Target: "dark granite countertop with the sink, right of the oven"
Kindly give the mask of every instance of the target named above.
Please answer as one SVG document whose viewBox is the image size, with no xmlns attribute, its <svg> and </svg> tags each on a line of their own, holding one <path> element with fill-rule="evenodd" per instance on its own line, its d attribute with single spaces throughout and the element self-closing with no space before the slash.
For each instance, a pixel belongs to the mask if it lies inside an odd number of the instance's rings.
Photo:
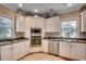
<svg viewBox="0 0 86 64">
<path fill-rule="evenodd" d="M 54 41 L 86 43 L 86 38 L 44 37 L 42 39 L 54 40 Z"/>
</svg>

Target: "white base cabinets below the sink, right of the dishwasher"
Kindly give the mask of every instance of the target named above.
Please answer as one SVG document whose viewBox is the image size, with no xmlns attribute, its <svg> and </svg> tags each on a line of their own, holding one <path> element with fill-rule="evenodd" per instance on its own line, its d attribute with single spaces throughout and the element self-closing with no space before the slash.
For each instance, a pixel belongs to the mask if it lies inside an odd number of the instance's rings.
<svg viewBox="0 0 86 64">
<path fill-rule="evenodd" d="M 86 60 L 86 43 L 60 42 L 60 55 L 73 60 Z"/>
</svg>

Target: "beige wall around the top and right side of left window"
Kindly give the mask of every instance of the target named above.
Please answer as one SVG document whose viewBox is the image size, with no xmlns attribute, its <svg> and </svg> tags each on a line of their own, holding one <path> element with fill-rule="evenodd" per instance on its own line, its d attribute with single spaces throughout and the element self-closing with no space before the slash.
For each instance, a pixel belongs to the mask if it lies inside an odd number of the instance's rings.
<svg viewBox="0 0 86 64">
<path fill-rule="evenodd" d="M 15 16 L 16 16 L 15 11 L 0 4 L 0 16 L 12 18 L 13 25 L 15 27 Z M 12 30 L 12 37 L 15 37 L 14 31 L 15 28 L 13 28 Z"/>
</svg>

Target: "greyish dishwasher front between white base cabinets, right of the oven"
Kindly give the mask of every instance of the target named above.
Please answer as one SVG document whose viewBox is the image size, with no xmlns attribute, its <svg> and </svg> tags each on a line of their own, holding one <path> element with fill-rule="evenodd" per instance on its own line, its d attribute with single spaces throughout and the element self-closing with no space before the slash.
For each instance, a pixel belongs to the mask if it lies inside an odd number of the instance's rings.
<svg viewBox="0 0 86 64">
<path fill-rule="evenodd" d="M 48 41 L 48 52 L 59 55 L 59 42 L 56 40 Z"/>
</svg>

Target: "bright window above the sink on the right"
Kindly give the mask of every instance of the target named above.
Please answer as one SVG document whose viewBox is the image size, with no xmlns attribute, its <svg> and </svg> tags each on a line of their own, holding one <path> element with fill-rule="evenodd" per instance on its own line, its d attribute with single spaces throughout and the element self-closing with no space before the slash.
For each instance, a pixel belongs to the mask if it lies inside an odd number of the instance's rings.
<svg viewBox="0 0 86 64">
<path fill-rule="evenodd" d="M 78 24 L 77 21 L 66 21 L 66 22 L 62 22 L 62 37 L 66 37 L 66 38 L 74 38 L 74 37 L 78 37 Z"/>
</svg>

